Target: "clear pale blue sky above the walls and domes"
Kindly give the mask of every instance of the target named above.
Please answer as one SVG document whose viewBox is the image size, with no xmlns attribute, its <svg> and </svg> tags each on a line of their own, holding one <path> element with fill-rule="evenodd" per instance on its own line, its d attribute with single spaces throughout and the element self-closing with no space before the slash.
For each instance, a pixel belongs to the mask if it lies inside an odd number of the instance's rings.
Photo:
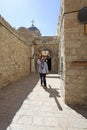
<svg viewBox="0 0 87 130">
<path fill-rule="evenodd" d="M 30 27 L 31 21 L 42 36 L 55 36 L 60 0 L 0 0 L 0 14 L 12 26 Z"/>
</svg>

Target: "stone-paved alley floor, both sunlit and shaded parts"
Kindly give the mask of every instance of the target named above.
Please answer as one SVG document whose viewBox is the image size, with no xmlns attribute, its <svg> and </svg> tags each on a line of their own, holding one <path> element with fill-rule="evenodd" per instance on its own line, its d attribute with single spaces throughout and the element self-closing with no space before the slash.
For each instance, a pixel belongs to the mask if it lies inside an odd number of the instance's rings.
<svg viewBox="0 0 87 130">
<path fill-rule="evenodd" d="M 57 75 L 47 77 L 47 90 L 38 79 L 31 74 L 0 90 L 0 130 L 87 130 L 87 110 L 64 103 Z"/>
</svg>

